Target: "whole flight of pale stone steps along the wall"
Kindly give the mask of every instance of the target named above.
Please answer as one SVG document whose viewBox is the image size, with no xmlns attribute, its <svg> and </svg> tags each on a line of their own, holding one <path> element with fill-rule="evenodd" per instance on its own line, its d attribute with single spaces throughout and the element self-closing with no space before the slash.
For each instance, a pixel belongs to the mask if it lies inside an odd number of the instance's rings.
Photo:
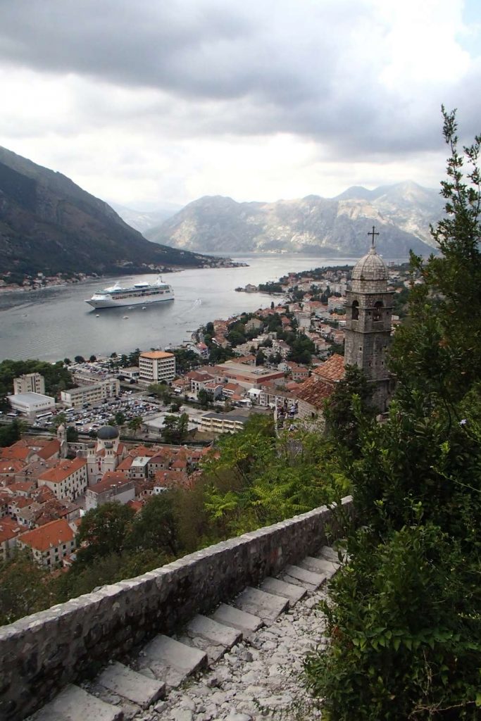
<svg viewBox="0 0 481 721">
<path fill-rule="evenodd" d="M 211 616 L 195 616 L 182 634 L 149 641 L 130 666 L 115 661 L 86 691 L 69 684 L 30 721 L 128 721 L 177 689 L 189 676 L 211 668 L 225 653 L 316 591 L 339 567 L 337 553 L 323 547 L 318 557 L 288 565 L 278 578 L 247 587 Z"/>
</svg>

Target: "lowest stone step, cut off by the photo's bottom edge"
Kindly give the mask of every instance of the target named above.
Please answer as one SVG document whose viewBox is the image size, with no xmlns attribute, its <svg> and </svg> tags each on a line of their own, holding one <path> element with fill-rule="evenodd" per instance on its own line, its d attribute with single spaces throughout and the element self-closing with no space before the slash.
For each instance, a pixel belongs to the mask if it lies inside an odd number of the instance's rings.
<svg viewBox="0 0 481 721">
<path fill-rule="evenodd" d="M 123 721 L 118 706 L 106 704 L 79 686 L 69 684 L 53 701 L 37 711 L 30 721 Z"/>
</svg>

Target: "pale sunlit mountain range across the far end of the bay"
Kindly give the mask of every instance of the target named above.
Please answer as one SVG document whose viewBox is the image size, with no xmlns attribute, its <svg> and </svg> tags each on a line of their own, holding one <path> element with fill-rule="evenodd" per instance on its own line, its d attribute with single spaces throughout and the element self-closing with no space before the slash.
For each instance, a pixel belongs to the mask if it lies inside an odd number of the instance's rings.
<svg viewBox="0 0 481 721">
<path fill-rule="evenodd" d="M 207 196 L 146 231 L 155 242 L 201 252 L 290 251 L 306 255 L 363 255 L 371 226 L 379 252 L 402 258 L 432 252 L 429 224 L 441 217 L 441 198 L 415 183 L 376 190 L 351 187 L 337 198 L 308 195 L 275 203 L 237 203 Z M 432 239 L 431 239 L 432 244 Z"/>
</svg>

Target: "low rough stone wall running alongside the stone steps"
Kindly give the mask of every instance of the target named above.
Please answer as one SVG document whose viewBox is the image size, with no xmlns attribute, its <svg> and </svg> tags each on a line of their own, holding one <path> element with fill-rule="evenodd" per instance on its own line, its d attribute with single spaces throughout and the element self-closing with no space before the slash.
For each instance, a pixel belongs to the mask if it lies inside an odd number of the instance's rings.
<svg viewBox="0 0 481 721">
<path fill-rule="evenodd" d="M 351 497 L 342 504 L 352 513 Z M 339 527 L 322 506 L 1 627 L 0 721 L 21 721 L 69 682 L 315 554 Z"/>
</svg>

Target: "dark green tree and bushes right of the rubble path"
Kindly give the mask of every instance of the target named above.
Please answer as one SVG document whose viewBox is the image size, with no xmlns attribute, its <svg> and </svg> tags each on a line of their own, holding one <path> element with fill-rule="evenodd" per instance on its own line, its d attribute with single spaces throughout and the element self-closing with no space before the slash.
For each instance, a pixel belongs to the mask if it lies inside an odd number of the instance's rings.
<svg viewBox="0 0 481 721">
<path fill-rule="evenodd" d="M 422 283 L 394 337 L 394 402 L 381 424 L 353 407 L 357 451 L 341 457 L 363 526 L 323 604 L 327 650 L 306 663 L 332 721 L 480 713 L 480 138 L 458 151 L 455 115 L 443 113 L 442 255 L 412 256 Z"/>
</svg>

